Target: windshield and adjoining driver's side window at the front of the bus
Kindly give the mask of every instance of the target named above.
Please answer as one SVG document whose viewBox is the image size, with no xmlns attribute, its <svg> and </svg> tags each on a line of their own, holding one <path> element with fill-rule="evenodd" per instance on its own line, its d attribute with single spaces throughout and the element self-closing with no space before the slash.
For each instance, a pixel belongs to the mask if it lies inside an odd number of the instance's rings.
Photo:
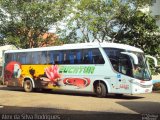
<svg viewBox="0 0 160 120">
<path fill-rule="evenodd" d="M 140 80 L 151 79 L 151 75 L 148 70 L 143 53 L 127 51 L 128 53 L 133 53 L 137 56 L 138 64 L 135 64 L 131 56 L 123 54 L 124 52 L 126 52 L 123 49 L 104 48 L 104 50 L 107 56 L 109 57 L 113 69 L 116 72 Z"/>
</svg>

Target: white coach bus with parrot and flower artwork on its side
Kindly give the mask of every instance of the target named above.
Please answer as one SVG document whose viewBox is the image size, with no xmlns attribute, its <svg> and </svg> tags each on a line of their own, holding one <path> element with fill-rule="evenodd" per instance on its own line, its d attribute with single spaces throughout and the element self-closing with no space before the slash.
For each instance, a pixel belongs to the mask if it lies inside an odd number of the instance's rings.
<svg viewBox="0 0 160 120">
<path fill-rule="evenodd" d="M 152 92 L 144 52 L 118 43 L 78 43 L 7 50 L 3 81 L 26 92 L 48 89 L 98 97 Z"/>
</svg>

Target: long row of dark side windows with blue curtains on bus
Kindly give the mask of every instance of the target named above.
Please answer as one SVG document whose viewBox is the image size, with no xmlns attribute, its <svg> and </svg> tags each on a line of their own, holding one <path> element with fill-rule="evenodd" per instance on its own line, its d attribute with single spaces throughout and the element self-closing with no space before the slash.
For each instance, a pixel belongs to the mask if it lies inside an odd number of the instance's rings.
<svg viewBox="0 0 160 120">
<path fill-rule="evenodd" d="M 21 64 L 104 64 L 98 48 L 13 53 L 6 54 L 7 61 Z"/>
</svg>

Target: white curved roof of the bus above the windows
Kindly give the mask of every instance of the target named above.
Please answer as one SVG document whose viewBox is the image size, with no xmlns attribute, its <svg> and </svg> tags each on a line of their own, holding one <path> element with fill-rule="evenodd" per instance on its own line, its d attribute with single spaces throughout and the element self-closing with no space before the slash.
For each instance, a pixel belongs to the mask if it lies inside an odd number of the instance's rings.
<svg viewBox="0 0 160 120">
<path fill-rule="evenodd" d="M 128 51 L 143 52 L 141 49 L 119 43 L 76 43 L 76 44 L 64 44 L 60 46 L 51 46 L 51 47 L 40 47 L 40 48 L 29 48 L 29 49 L 19 49 L 19 50 L 7 50 L 5 53 L 13 52 L 32 52 L 32 51 L 47 51 L 47 50 L 68 50 L 68 49 L 85 49 L 85 48 L 119 48 Z"/>
</svg>

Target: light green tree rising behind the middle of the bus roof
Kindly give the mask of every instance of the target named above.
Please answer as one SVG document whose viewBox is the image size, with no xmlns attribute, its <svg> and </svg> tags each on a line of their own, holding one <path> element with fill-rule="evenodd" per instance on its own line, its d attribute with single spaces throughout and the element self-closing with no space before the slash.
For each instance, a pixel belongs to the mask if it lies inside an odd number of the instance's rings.
<svg viewBox="0 0 160 120">
<path fill-rule="evenodd" d="M 95 39 L 99 42 L 108 39 L 112 26 L 115 24 L 114 18 L 118 11 L 118 0 L 107 3 L 104 0 L 80 0 L 74 4 L 72 17 L 67 24 L 70 30 L 64 37 L 72 41 L 90 42 Z M 114 9 L 113 9 L 114 8 Z M 66 31 L 64 31 L 66 32 Z M 70 41 L 68 41 L 70 42 Z"/>
</svg>

